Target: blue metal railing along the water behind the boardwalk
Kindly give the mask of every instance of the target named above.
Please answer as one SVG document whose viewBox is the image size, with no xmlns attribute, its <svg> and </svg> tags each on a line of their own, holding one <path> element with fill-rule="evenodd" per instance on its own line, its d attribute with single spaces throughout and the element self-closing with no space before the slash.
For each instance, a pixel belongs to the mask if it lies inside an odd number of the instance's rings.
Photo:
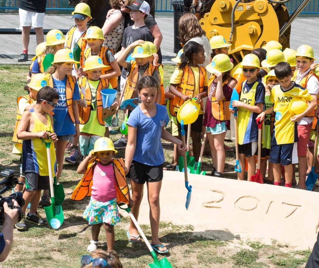
<svg viewBox="0 0 319 268">
<path fill-rule="evenodd" d="M 155 11 L 156 12 L 173 12 L 173 7 L 171 5 L 171 0 L 155 0 Z M 286 3 L 286 6 L 290 13 L 292 13 L 302 2 L 302 0 L 291 0 Z M 10 11 L 15 11 L 19 9 L 19 0 L 0 0 L 0 12 L 6 13 Z M 69 14 L 66 11 L 74 10 L 74 6 L 70 6 L 67 0 L 47 0 L 48 11 L 62 11 L 62 14 Z M 64 12 L 63 12 L 64 11 Z M 319 1 L 311 0 L 311 2 L 305 7 L 301 14 L 319 14 Z"/>
</svg>

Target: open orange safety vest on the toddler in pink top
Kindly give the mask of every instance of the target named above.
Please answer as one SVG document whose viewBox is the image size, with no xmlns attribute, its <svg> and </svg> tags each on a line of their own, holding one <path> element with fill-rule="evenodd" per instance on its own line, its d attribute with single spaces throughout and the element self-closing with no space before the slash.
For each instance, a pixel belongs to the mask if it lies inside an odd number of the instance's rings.
<svg viewBox="0 0 319 268">
<path fill-rule="evenodd" d="M 96 159 L 91 159 L 87 165 L 86 172 L 77 187 L 75 187 L 70 199 L 83 200 L 87 196 L 91 196 L 92 179 L 94 167 L 97 164 Z M 122 158 L 113 159 L 113 170 L 116 178 L 116 198 L 117 203 L 129 203 L 129 186 L 126 183 L 124 173 L 124 161 Z"/>
</svg>

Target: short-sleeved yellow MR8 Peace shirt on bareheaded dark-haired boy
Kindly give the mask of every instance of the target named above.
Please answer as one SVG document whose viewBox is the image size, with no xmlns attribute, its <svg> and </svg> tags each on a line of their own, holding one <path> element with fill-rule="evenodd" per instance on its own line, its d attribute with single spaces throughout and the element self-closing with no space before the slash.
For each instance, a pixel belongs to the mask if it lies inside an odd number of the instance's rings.
<svg viewBox="0 0 319 268">
<path fill-rule="evenodd" d="M 307 101 L 313 99 L 307 89 L 295 82 L 293 82 L 292 88 L 287 91 L 283 91 L 281 85 L 275 85 L 272 88 L 269 101 L 274 103 L 275 122 L 272 130 L 271 145 L 298 141 L 297 122 L 290 120 L 293 115 L 288 111 L 289 103 L 296 97 Z"/>
</svg>

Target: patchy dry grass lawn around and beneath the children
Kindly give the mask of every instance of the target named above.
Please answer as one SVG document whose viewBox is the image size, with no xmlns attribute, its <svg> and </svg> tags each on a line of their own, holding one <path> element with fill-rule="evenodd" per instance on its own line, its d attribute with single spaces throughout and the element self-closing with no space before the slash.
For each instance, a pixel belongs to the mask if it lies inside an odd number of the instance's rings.
<svg viewBox="0 0 319 268">
<path fill-rule="evenodd" d="M 165 66 L 164 86 L 168 86 L 174 66 Z M 15 127 L 16 98 L 26 94 L 23 90 L 25 84 L 26 66 L 0 65 L 0 170 L 11 168 L 19 170 L 19 156 L 11 153 L 12 134 Z M 121 118 L 121 115 L 119 116 Z M 117 130 L 115 128 L 115 130 Z M 113 141 L 120 134 L 112 135 Z M 227 141 L 228 146 L 234 146 Z M 166 163 L 173 157 L 172 147 L 165 146 L 164 154 Z M 67 156 L 67 154 L 66 154 Z M 118 157 L 124 156 L 124 150 L 119 150 Z M 16 162 L 13 162 L 16 161 Z M 13 162 L 13 163 L 12 163 Z M 10 164 L 9 166 L 5 166 Z M 203 158 L 203 170 L 211 170 L 211 158 Z M 227 177 L 235 178 L 234 152 L 226 152 Z M 54 230 L 48 226 L 30 226 L 26 232 L 14 230 L 14 243 L 8 259 L 1 264 L 4 268 L 20 267 L 80 267 L 80 258 L 87 254 L 86 247 L 91 240 L 91 228 L 82 218 L 88 199 L 82 201 L 70 200 L 81 176 L 76 173 L 76 166 L 65 163 L 61 182 L 66 193 L 63 203 L 63 226 Z M 9 192 L 7 193 L 9 194 Z M 39 213 L 45 212 L 39 208 Z M 121 213 L 121 223 L 115 226 L 115 250 L 120 255 L 124 268 L 146 268 L 153 259 L 144 243 L 131 244 L 128 242 L 126 231 L 129 218 L 126 213 Z M 149 225 L 142 225 L 145 235 L 150 240 L 151 229 Z M 174 268 L 228 268 L 228 267 L 304 267 L 311 251 L 294 251 L 286 245 L 273 241 L 271 245 L 260 242 L 241 241 L 234 243 L 221 241 L 219 238 L 207 238 L 193 233 L 194 226 L 176 225 L 172 222 L 160 222 L 159 238 L 167 244 L 170 253 L 168 261 Z M 99 236 L 100 248 L 107 249 L 105 232 L 102 229 Z M 163 256 L 158 256 L 159 259 Z"/>
</svg>

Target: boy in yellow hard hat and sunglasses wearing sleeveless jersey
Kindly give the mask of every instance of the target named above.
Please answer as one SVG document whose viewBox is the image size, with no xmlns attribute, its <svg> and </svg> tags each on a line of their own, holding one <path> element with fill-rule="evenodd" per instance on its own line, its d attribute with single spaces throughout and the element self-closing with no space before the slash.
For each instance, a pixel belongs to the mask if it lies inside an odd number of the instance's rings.
<svg viewBox="0 0 319 268">
<path fill-rule="evenodd" d="M 251 176 L 255 174 L 255 152 L 257 150 L 258 127 L 256 118 L 263 111 L 265 103 L 265 88 L 263 83 L 257 78 L 259 71 L 259 59 L 254 54 L 247 54 L 241 62 L 243 74 L 247 80 L 241 85 L 239 94 L 240 100 L 233 100 L 232 106 L 239 107 L 237 114 L 238 127 L 238 151 L 239 163 L 241 172 L 238 172 L 238 179 L 244 180 L 245 167 L 247 158 L 248 162 L 248 181 L 251 181 Z M 232 113 L 235 110 L 230 109 Z"/>
</svg>

